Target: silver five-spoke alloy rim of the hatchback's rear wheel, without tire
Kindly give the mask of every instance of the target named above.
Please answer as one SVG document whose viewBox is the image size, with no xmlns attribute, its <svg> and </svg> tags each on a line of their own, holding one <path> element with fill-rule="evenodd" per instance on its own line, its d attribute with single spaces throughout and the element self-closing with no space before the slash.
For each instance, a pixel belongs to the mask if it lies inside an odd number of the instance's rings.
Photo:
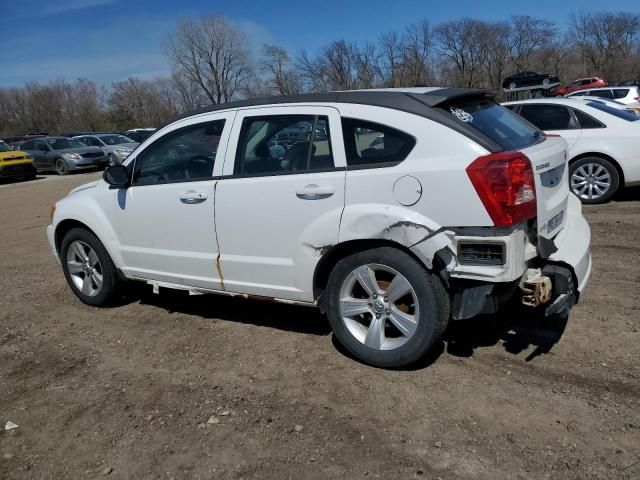
<svg viewBox="0 0 640 480">
<path fill-rule="evenodd" d="M 340 316 L 359 342 L 376 350 L 393 350 L 404 345 L 418 327 L 417 295 L 397 270 L 361 265 L 342 283 Z"/>
</svg>

